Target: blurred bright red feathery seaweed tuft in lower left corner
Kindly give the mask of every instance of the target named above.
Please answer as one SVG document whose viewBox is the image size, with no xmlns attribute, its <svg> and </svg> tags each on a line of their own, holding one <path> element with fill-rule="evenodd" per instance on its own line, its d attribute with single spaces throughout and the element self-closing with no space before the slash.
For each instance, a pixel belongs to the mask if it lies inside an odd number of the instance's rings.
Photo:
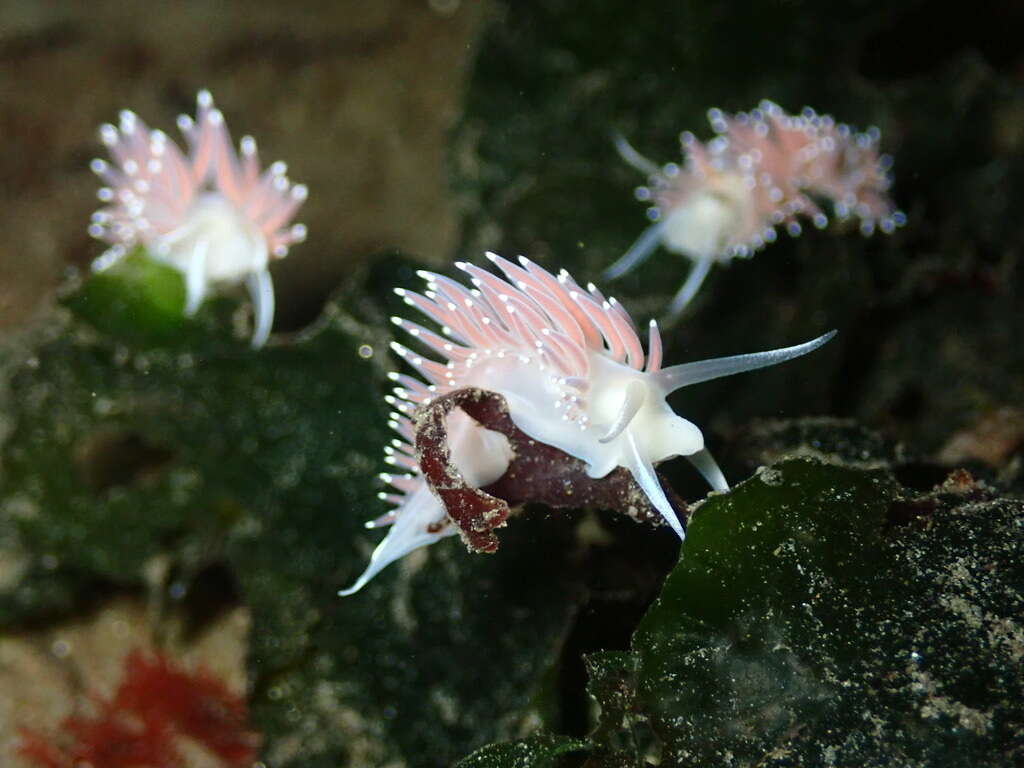
<svg viewBox="0 0 1024 768">
<path fill-rule="evenodd" d="M 256 759 L 245 700 L 206 670 L 186 673 L 135 651 L 114 698 L 93 702 L 95 715 L 66 718 L 58 735 L 23 729 L 18 754 L 41 768 L 184 768 L 184 738 L 228 768 Z"/>
</svg>

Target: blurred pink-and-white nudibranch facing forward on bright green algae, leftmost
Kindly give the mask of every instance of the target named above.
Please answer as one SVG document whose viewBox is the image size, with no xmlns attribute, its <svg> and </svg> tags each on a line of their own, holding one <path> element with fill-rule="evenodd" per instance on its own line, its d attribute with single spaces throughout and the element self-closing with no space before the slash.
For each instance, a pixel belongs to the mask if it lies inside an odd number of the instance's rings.
<svg viewBox="0 0 1024 768">
<path fill-rule="evenodd" d="M 92 214 L 89 233 L 111 247 L 93 269 L 105 269 L 141 245 L 183 274 L 189 315 L 211 287 L 246 283 L 255 317 L 252 344 L 260 347 L 273 325 L 269 263 L 305 240 L 306 227 L 289 222 L 306 187 L 289 180 L 284 163 L 261 171 L 252 136 L 243 136 L 236 154 L 210 92 L 201 90 L 197 102 L 195 120 L 181 115 L 177 121 L 187 157 L 132 112 L 122 112 L 117 127 L 100 126 L 112 162 L 97 158 L 90 166 L 104 182 L 97 197 L 106 205 Z"/>
</svg>

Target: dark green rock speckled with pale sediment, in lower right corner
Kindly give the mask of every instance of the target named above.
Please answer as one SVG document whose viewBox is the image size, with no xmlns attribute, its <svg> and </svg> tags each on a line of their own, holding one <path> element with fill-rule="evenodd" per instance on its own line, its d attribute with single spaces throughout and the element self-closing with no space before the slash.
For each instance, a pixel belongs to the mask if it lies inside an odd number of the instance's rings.
<svg viewBox="0 0 1024 768">
<path fill-rule="evenodd" d="M 1024 502 L 965 472 L 913 494 L 770 471 L 694 513 L 632 651 L 591 657 L 595 741 L 671 765 L 1016 765 Z"/>
</svg>

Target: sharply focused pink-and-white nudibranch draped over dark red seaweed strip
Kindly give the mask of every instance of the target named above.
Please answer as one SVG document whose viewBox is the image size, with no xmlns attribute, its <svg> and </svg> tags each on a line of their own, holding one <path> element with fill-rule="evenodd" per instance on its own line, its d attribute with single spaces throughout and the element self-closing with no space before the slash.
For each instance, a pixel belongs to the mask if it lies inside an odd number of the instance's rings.
<svg viewBox="0 0 1024 768">
<path fill-rule="evenodd" d="M 681 387 L 806 354 L 835 333 L 784 349 L 664 368 L 654 321 L 645 351 L 627 311 L 593 285 L 584 290 L 567 272 L 556 278 L 525 258 L 518 264 L 495 254 L 487 258 L 505 280 L 457 263 L 472 288 L 422 271 L 427 284 L 423 294 L 396 289 L 439 333 L 400 317 L 392 322 L 440 361 L 392 344 L 423 378 L 391 375 L 396 386 L 386 399 L 394 409 L 390 426 L 398 438 L 385 449 L 385 461 L 399 471 L 382 475 L 393 492 L 381 496 L 393 509 L 367 524 L 390 529 L 365 572 L 342 595 L 360 589 L 407 553 L 462 532 L 421 467 L 418 447 L 431 403 L 459 391 L 500 395 L 518 430 L 581 460 L 589 477 L 603 478 L 625 468 L 682 538 L 683 525 L 654 466 L 683 456 L 713 488 L 725 490 L 728 483 L 705 447 L 700 430 L 677 416 L 666 398 Z M 461 479 L 475 488 L 499 480 L 515 459 L 508 437 L 462 411 L 446 410 L 445 415 L 447 449 Z"/>
</svg>

